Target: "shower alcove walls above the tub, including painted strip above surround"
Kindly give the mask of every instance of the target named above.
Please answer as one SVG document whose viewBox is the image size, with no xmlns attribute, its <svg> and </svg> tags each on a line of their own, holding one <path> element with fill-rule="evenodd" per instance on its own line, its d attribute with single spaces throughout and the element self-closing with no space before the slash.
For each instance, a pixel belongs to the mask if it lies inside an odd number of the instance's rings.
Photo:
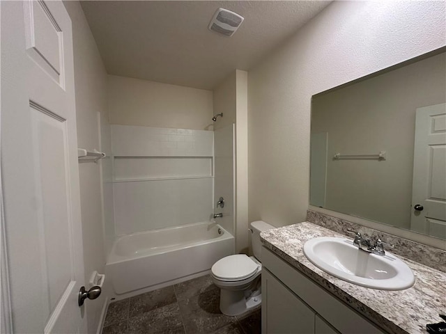
<svg viewBox="0 0 446 334">
<path fill-rule="evenodd" d="M 105 182 L 113 199 L 107 240 L 210 221 L 220 212 L 215 221 L 234 234 L 234 130 L 224 118 L 211 120 L 213 91 L 113 75 L 107 84 L 113 155 L 113 177 Z M 215 208 L 215 196 L 224 197 L 224 209 Z"/>
</svg>

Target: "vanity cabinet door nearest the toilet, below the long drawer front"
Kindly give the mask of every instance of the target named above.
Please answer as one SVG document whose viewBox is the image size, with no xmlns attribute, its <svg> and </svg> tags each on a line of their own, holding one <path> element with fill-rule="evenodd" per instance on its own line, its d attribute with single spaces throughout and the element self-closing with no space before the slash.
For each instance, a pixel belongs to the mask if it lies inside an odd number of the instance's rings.
<svg viewBox="0 0 446 334">
<path fill-rule="evenodd" d="M 262 270 L 262 333 L 314 333 L 315 313 L 271 273 Z"/>
</svg>

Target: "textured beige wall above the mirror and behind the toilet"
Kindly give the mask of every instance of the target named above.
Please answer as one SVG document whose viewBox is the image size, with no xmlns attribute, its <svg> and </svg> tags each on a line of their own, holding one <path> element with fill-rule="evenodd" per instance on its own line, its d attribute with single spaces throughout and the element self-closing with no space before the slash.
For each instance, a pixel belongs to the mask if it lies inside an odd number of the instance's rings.
<svg viewBox="0 0 446 334">
<path fill-rule="evenodd" d="M 305 221 L 312 95 L 445 41 L 445 3 L 334 1 L 249 71 L 249 221 Z"/>
</svg>

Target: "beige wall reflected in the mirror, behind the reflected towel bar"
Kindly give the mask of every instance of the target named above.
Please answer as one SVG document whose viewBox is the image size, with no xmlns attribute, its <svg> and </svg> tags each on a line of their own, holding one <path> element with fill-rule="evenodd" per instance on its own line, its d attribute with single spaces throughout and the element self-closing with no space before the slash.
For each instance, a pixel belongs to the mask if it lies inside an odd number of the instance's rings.
<svg viewBox="0 0 446 334">
<path fill-rule="evenodd" d="M 443 53 L 314 97 L 312 134 L 328 133 L 326 209 L 410 228 L 415 111 L 445 102 L 445 74 Z M 380 150 L 386 161 L 332 159 Z"/>
</svg>

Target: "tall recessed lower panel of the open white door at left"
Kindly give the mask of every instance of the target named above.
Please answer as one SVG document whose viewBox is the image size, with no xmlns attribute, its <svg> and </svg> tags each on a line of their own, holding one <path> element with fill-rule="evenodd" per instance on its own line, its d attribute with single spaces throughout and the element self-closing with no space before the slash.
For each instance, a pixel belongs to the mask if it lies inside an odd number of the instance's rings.
<svg viewBox="0 0 446 334">
<path fill-rule="evenodd" d="M 66 125 L 55 114 L 31 110 L 35 166 L 36 221 L 40 241 L 43 286 L 49 292 L 49 310 L 63 295 L 73 276 L 70 249 L 70 202 L 67 184 Z M 56 181 L 56 182 L 54 182 Z M 67 261 L 68 259 L 68 261 Z"/>
</svg>

